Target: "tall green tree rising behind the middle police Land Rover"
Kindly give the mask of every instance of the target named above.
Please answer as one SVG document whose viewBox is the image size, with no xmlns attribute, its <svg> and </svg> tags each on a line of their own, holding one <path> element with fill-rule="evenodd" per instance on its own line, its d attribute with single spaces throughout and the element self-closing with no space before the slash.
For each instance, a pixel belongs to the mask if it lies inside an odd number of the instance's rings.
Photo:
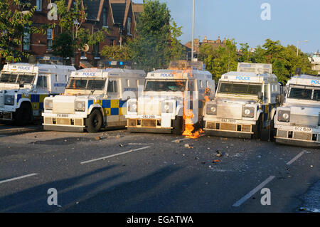
<svg viewBox="0 0 320 227">
<path fill-rule="evenodd" d="M 177 40 L 181 27 L 172 21 L 165 3 L 144 0 L 143 5 L 144 11 L 137 22 L 137 38 L 129 41 L 132 60 L 146 71 L 166 68 L 171 59 L 182 56 Z"/>
</svg>

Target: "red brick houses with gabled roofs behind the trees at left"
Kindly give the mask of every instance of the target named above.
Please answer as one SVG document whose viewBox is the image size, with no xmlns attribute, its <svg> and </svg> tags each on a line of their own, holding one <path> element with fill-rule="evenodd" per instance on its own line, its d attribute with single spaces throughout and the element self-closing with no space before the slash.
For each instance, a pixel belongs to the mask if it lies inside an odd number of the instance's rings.
<svg viewBox="0 0 320 227">
<path fill-rule="evenodd" d="M 70 9 L 74 0 L 65 1 Z M 53 0 L 52 2 L 54 3 Z M 58 23 L 48 20 L 51 0 L 33 0 L 31 3 L 37 6 L 33 15 L 33 26 Z M 97 65 L 97 61 L 102 59 L 100 53 L 103 46 L 122 45 L 128 38 L 135 36 L 137 16 L 143 11 L 143 6 L 132 3 L 132 0 L 82 0 L 82 3 L 87 9 L 87 20 L 82 27 L 89 31 L 99 31 L 102 28 L 108 30 L 105 41 L 89 46 L 88 50 L 76 51 L 75 66 L 87 68 Z M 33 56 L 52 56 L 51 46 L 60 32 L 61 28 L 56 26 L 48 29 L 46 35 L 25 33 L 21 51 Z"/>
</svg>

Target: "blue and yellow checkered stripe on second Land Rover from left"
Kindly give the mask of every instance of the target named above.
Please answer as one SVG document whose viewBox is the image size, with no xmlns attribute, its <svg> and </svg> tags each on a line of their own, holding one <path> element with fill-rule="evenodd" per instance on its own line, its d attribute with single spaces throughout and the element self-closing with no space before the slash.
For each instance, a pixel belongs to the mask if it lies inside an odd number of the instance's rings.
<svg viewBox="0 0 320 227">
<path fill-rule="evenodd" d="M 127 101 L 124 100 L 89 100 L 88 109 L 90 105 L 94 104 L 102 106 L 103 115 L 105 116 L 125 115 L 125 110 L 127 109 Z"/>
</svg>

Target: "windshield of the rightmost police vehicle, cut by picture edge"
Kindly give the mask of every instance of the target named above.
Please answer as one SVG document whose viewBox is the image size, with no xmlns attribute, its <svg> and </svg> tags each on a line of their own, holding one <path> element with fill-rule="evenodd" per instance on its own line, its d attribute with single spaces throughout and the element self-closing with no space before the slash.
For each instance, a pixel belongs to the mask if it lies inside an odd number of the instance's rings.
<svg viewBox="0 0 320 227">
<path fill-rule="evenodd" d="M 320 88 L 312 87 L 293 87 L 289 86 L 289 93 L 287 97 L 298 100 L 315 100 L 320 101 Z"/>
</svg>

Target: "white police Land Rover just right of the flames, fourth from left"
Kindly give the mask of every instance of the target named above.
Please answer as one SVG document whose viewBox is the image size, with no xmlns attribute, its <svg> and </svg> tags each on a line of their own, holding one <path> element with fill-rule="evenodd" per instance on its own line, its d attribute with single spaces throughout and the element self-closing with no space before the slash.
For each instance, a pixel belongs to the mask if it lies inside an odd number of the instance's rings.
<svg viewBox="0 0 320 227">
<path fill-rule="evenodd" d="M 206 102 L 206 134 L 260 138 L 266 129 L 263 134 L 269 138 L 280 94 L 277 77 L 271 73 L 269 64 L 239 63 L 237 72 L 222 75 L 215 99 Z"/>
</svg>

